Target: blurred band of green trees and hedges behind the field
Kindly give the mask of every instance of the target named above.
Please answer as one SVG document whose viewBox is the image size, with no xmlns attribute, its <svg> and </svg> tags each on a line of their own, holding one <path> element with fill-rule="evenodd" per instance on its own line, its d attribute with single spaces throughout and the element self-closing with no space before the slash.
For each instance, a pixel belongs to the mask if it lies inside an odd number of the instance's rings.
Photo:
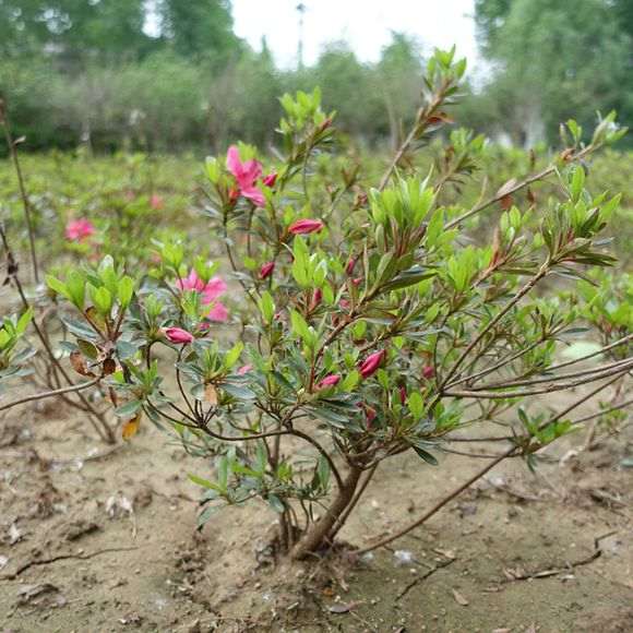
<svg viewBox="0 0 633 633">
<path fill-rule="evenodd" d="M 487 71 L 459 124 L 516 146 L 556 143 L 572 116 L 588 130 L 597 110 L 631 124 L 631 0 L 476 0 L 475 20 Z M 277 96 L 314 85 L 356 142 L 395 145 L 419 101 L 422 44 L 394 33 L 362 63 L 332 43 L 282 70 L 265 41 L 258 52 L 235 35 L 227 0 L 0 0 L 0 95 L 28 150 L 266 146 Z"/>
</svg>

